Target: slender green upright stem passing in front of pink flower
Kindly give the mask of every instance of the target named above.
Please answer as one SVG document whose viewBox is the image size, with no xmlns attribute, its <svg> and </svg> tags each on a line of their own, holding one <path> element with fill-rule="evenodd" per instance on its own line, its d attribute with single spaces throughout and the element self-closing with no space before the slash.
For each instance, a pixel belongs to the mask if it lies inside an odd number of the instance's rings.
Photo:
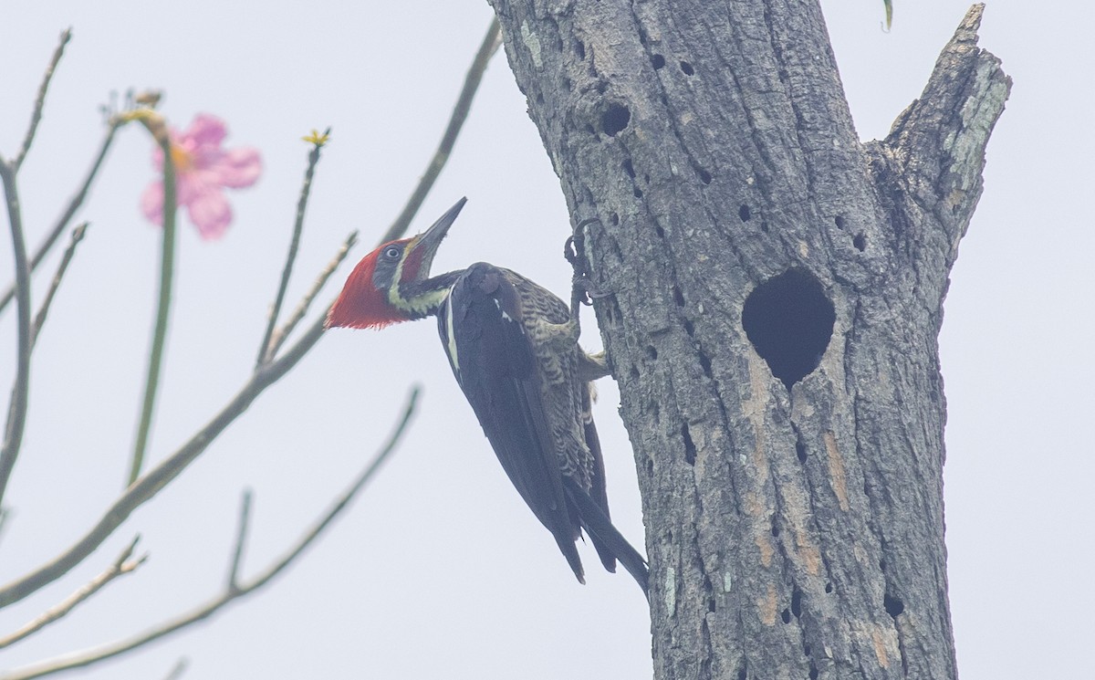
<svg viewBox="0 0 1095 680">
<path fill-rule="evenodd" d="M 175 163 L 171 158 L 171 139 L 168 135 L 158 135 L 157 141 L 163 149 L 163 250 L 160 255 L 160 296 L 155 311 L 155 329 L 152 331 L 152 349 L 148 357 L 145 399 L 141 402 L 137 441 L 134 445 L 134 457 L 126 486 L 137 480 L 145 464 L 145 450 L 148 448 L 149 430 L 152 427 L 155 394 L 160 387 L 163 347 L 168 339 L 168 312 L 171 310 L 171 283 L 175 268 Z"/>
</svg>

